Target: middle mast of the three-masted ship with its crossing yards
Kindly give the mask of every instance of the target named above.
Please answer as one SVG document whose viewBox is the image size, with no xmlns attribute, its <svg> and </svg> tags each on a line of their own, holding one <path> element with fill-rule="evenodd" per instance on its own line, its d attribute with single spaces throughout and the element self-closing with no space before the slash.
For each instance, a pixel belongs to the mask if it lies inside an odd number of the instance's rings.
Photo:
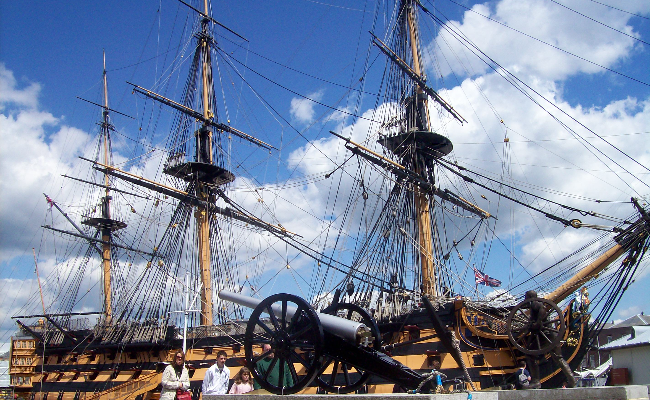
<svg viewBox="0 0 650 400">
<path fill-rule="evenodd" d="M 216 115 L 216 99 L 214 93 L 214 81 L 212 77 L 211 51 L 215 45 L 214 38 L 210 31 L 210 24 L 219 25 L 229 32 L 235 32 L 226 28 L 209 15 L 208 1 L 203 0 L 203 11 L 198 10 L 181 0 L 189 8 L 197 12 L 201 17 L 200 31 L 196 33 L 197 47 L 190 66 L 190 74 L 186 84 L 184 97 L 181 103 L 161 96 L 141 86 L 133 85 L 134 92 L 143 94 L 156 101 L 159 101 L 181 113 L 178 125 L 176 126 L 173 148 L 170 151 L 167 163 L 163 172 L 187 183 L 187 191 L 169 191 L 169 193 L 184 193 L 186 196 L 180 198 L 184 206 L 194 208 L 194 221 L 196 225 L 196 246 L 198 247 L 198 267 L 201 279 L 201 325 L 212 325 L 212 251 L 211 251 L 211 227 L 216 227 L 215 212 L 220 210 L 215 205 L 217 197 L 223 195 L 218 187 L 226 185 L 235 180 L 235 176 L 224 168 L 223 151 L 215 144 L 214 134 L 228 132 L 247 140 L 257 146 L 271 149 L 273 146 L 259 139 L 254 138 L 229 124 L 218 121 Z M 241 36 L 237 35 L 242 38 Z M 243 40 L 246 40 L 242 38 Z M 200 87 L 199 87 L 200 86 Z M 196 94 L 196 95 L 195 95 Z M 194 159 L 185 161 L 188 148 L 190 147 L 189 129 L 194 123 L 199 123 L 199 128 L 194 132 Z M 229 121 L 228 121 L 229 123 Z M 215 152 L 215 150 L 217 150 Z M 217 157 L 215 157 L 215 155 Z M 215 159 L 216 158 L 216 159 Z M 128 177 L 128 173 L 115 169 L 109 171 L 122 179 L 126 179 L 137 185 L 148 188 L 161 189 L 162 185 L 149 181 L 144 183 L 141 179 L 134 180 Z M 152 186 L 153 185 L 153 186 Z M 175 194 L 170 194 L 174 196 Z M 191 201 L 190 201 L 191 200 Z M 228 216 L 233 216 L 228 212 Z M 214 245 L 214 243 L 212 243 Z"/>
</svg>

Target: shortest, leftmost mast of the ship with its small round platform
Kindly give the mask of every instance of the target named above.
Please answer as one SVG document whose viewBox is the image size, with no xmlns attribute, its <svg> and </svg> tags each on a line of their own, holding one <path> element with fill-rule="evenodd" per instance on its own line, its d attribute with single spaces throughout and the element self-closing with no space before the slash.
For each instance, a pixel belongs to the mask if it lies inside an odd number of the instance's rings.
<svg viewBox="0 0 650 400">
<path fill-rule="evenodd" d="M 110 151 L 110 134 L 113 125 L 109 118 L 108 108 L 108 83 L 106 77 L 106 53 L 103 53 L 104 58 L 104 99 L 102 110 L 102 123 L 101 123 L 101 138 L 103 147 L 104 165 L 111 166 Z M 101 217 L 88 218 L 82 223 L 84 225 L 92 226 L 101 231 L 102 235 L 102 275 L 103 275 L 103 289 L 104 289 L 104 316 L 106 323 L 110 323 L 113 318 L 112 295 L 111 295 L 111 243 L 113 232 L 119 229 L 126 228 L 126 224 L 122 221 L 114 220 L 111 218 L 111 192 L 110 180 L 108 174 L 104 172 L 104 196 L 102 197 L 101 204 Z"/>
</svg>

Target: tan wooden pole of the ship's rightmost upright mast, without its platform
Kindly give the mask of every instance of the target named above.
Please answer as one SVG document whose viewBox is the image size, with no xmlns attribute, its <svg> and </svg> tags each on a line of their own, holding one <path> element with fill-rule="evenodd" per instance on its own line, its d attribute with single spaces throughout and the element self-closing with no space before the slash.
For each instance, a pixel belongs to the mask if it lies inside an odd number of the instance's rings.
<svg viewBox="0 0 650 400">
<path fill-rule="evenodd" d="M 411 6 L 410 1 L 405 7 L 404 12 L 406 13 L 407 19 L 407 28 L 409 30 L 409 39 L 411 43 L 411 55 L 413 57 L 413 70 L 418 76 L 422 76 L 422 67 L 420 61 L 420 43 L 418 38 L 417 24 L 415 21 L 415 10 Z M 417 113 L 420 110 L 424 110 L 426 113 L 425 118 L 422 118 L 424 123 L 427 126 L 422 127 L 423 130 L 429 130 L 429 107 L 427 105 L 428 101 L 426 97 L 420 98 L 423 93 L 422 88 L 417 86 L 416 96 L 414 101 L 419 103 L 423 102 L 423 106 L 411 108 L 411 112 Z M 416 120 L 418 117 L 416 115 L 407 115 L 409 120 Z M 415 166 L 415 172 L 420 174 L 422 173 L 420 166 Z M 420 252 L 420 273 L 422 276 L 422 292 L 430 297 L 437 297 L 437 284 L 436 284 L 436 271 L 435 266 L 433 265 L 433 242 L 431 237 L 431 210 L 429 209 L 429 198 L 426 193 L 420 190 L 417 186 L 413 187 L 413 194 L 415 197 L 415 213 L 417 218 L 417 227 L 418 227 L 418 241 L 419 241 L 419 252 Z"/>
</svg>

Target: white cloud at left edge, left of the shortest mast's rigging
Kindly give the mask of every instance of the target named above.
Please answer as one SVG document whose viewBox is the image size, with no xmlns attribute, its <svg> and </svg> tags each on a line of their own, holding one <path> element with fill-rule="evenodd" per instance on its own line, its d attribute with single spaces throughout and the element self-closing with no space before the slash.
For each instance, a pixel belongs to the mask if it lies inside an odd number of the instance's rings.
<svg viewBox="0 0 650 400">
<path fill-rule="evenodd" d="M 0 85 L 11 86 L 0 76 Z M 30 86 L 32 87 L 32 86 Z M 14 97 L 23 105 L 36 105 L 38 91 L 14 87 Z M 5 110 L 6 111 L 6 110 Z M 79 129 L 60 124 L 52 114 L 21 108 L 0 114 L 0 259 L 7 260 L 24 251 L 39 229 L 33 217 L 45 204 L 43 193 L 60 187 L 76 156 L 88 145 L 90 136 Z M 39 210 L 37 212 L 36 210 Z"/>
</svg>

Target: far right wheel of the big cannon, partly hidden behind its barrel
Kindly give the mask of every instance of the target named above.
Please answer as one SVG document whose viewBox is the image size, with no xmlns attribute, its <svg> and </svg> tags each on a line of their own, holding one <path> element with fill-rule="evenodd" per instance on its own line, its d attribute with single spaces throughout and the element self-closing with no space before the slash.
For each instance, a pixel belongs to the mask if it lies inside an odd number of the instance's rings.
<svg viewBox="0 0 650 400">
<path fill-rule="evenodd" d="M 372 336 L 374 340 L 371 344 L 371 347 L 375 350 L 378 350 L 381 346 L 381 335 L 379 333 L 379 328 L 375 323 L 375 320 L 364 310 L 363 308 L 357 306 L 356 304 L 350 303 L 339 303 L 336 305 L 336 308 L 332 312 L 333 315 L 349 319 L 351 321 L 362 322 L 372 331 Z M 329 378 L 322 378 L 321 374 L 330 366 L 332 366 L 332 374 Z M 356 372 L 354 375 L 351 375 L 351 372 Z M 336 377 L 338 374 L 343 374 L 344 385 L 336 384 Z M 350 393 L 359 389 L 363 386 L 370 378 L 370 373 L 367 371 L 361 371 L 358 368 L 343 362 L 339 362 L 332 357 L 323 356 L 322 367 L 318 376 L 316 377 L 316 382 L 318 386 L 323 388 L 325 391 L 330 393 Z"/>
</svg>

